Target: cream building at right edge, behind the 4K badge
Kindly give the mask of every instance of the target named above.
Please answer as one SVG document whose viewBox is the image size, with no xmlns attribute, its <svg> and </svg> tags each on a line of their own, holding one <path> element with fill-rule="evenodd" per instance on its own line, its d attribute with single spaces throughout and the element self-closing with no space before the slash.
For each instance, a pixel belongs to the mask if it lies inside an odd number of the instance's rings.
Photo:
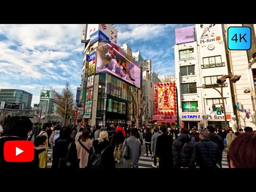
<svg viewBox="0 0 256 192">
<path fill-rule="evenodd" d="M 235 75 L 242 75 L 239 81 L 233 83 L 232 92 L 233 107 L 236 116 L 234 121 L 238 122 L 238 127 L 244 129 L 246 126 L 256 130 L 256 64 L 251 62 L 253 54 L 256 53 L 256 24 L 225 24 L 225 45 L 228 46 L 228 28 L 229 27 L 250 27 L 251 28 L 251 49 L 250 50 L 229 50 L 227 60 L 229 71 Z M 245 36 L 247 39 L 248 36 Z M 248 40 L 248 39 L 247 39 Z M 255 56 L 254 56 L 255 57 Z M 256 58 L 254 58 L 256 59 Z M 254 63 L 254 64 L 253 64 Z"/>
</svg>

